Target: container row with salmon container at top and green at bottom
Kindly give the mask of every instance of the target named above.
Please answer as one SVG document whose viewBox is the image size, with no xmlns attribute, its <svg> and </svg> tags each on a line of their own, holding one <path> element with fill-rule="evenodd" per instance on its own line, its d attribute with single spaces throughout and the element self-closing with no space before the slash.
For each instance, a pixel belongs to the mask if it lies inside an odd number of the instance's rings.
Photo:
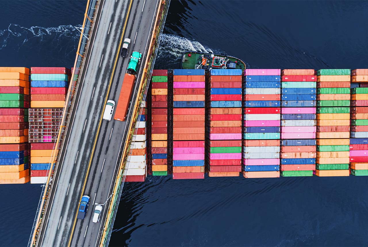
<svg viewBox="0 0 368 247">
<path fill-rule="evenodd" d="M 284 69 L 281 75 L 281 175 L 313 176 L 317 76 L 314 69 Z"/>
</svg>

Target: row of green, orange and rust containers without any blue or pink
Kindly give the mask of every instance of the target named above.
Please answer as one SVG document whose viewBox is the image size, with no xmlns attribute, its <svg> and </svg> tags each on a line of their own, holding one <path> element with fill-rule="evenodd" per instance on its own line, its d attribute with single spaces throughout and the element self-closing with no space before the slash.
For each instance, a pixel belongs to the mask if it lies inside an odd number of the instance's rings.
<svg viewBox="0 0 368 247">
<path fill-rule="evenodd" d="M 350 69 L 317 75 L 317 176 L 349 176 Z"/>
</svg>

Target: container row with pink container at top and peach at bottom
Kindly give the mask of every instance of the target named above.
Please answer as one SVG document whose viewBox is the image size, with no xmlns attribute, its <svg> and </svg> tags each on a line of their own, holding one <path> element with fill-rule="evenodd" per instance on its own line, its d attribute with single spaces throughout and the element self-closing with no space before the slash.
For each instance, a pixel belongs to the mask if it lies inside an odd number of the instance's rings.
<svg viewBox="0 0 368 247">
<path fill-rule="evenodd" d="M 280 176 L 280 69 L 246 69 L 243 175 Z"/>
</svg>

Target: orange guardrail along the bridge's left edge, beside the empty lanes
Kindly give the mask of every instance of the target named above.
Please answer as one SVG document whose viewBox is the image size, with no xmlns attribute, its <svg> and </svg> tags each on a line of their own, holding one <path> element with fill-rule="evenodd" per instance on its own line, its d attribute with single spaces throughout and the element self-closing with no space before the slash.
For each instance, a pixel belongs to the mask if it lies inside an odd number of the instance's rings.
<svg viewBox="0 0 368 247">
<path fill-rule="evenodd" d="M 74 94 L 78 90 L 79 85 L 79 72 L 82 71 L 84 66 L 84 56 L 89 47 L 89 37 L 93 30 L 93 21 L 97 9 L 99 7 L 99 0 L 87 0 L 86 11 L 84 14 L 83 25 L 80 30 L 81 36 L 79 38 L 77 55 L 75 57 L 74 68 L 71 75 L 68 93 L 64 104 L 63 115 L 61 118 L 59 133 L 57 136 L 56 143 L 54 144 L 54 150 L 50 159 L 49 175 L 43 185 L 41 198 L 38 204 L 38 209 L 33 222 L 32 233 L 29 237 L 28 246 L 36 246 L 38 243 L 38 236 L 43 226 L 43 219 L 45 218 L 46 209 L 49 203 L 50 191 L 53 188 L 53 176 L 57 173 L 57 165 L 59 163 L 60 151 L 64 145 L 64 135 L 69 126 L 69 117 L 74 107 Z"/>
</svg>

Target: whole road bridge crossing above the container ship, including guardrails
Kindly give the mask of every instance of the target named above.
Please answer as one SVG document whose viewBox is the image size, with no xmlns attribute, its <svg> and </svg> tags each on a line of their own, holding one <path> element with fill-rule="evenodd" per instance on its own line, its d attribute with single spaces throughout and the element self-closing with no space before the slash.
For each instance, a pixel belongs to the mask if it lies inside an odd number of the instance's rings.
<svg viewBox="0 0 368 247">
<path fill-rule="evenodd" d="M 107 246 L 124 183 L 124 166 L 134 137 L 169 1 L 88 0 L 59 136 L 43 185 L 29 246 Z M 129 52 L 142 53 L 128 117 L 103 121 L 107 100 L 118 101 Z M 89 214 L 77 220 L 89 195 Z M 92 223 L 94 204 L 103 204 Z"/>
</svg>

